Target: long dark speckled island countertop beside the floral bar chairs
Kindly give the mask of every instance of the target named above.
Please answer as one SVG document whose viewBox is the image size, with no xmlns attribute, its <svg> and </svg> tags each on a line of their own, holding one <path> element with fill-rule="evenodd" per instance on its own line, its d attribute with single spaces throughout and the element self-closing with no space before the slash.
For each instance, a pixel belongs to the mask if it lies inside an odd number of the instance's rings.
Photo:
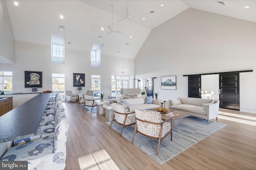
<svg viewBox="0 0 256 170">
<path fill-rule="evenodd" d="M 52 93 L 41 93 L 0 117 L 0 143 L 34 136 Z"/>
</svg>

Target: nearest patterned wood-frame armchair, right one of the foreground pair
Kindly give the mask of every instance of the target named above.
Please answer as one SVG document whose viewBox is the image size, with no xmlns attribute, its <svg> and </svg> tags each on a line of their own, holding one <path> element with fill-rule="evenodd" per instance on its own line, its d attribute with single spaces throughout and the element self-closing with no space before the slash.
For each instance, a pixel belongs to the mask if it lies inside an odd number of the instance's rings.
<svg viewBox="0 0 256 170">
<path fill-rule="evenodd" d="M 158 156 L 160 142 L 169 134 L 171 134 L 172 141 L 172 119 L 170 118 L 163 121 L 160 112 L 144 109 L 135 109 L 135 114 L 136 125 L 134 129 L 132 144 L 137 132 L 146 137 L 158 139 L 158 148 L 156 154 Z M 171 121 L 171 123 L 168 121 Z"/>
</svg>

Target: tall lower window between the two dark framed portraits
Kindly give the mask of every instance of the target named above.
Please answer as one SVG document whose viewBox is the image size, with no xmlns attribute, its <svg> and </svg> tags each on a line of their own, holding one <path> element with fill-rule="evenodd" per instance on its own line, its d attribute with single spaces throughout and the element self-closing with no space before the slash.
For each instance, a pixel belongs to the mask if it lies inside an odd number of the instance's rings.
<svg viewBox="0 0 256 170">
<path fill-rule="evenodd" d="M 52 74 L 53 94 L 60 93 L 61 98 L 65 98 L 65 74 Z"/>
</svg>

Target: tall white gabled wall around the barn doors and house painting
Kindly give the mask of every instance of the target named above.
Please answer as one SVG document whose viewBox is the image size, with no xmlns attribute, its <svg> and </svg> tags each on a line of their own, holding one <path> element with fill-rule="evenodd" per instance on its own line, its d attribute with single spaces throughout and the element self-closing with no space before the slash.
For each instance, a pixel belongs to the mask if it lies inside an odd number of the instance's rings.
<svg viewBox="0 0 256 170">
<path fill-rule="evenodd" d="M 158 98 L 188 96 L 187 74 L 240 73 L 240 111 L 256 113 L 256 23 L 188 8 L 152 29 L 135 58 L 136 78 L 157 77 Z M 145 63 L 145 64 L 143 64 Z M 177 90 L 161 90 L 176 75 Z"/>
</svg>

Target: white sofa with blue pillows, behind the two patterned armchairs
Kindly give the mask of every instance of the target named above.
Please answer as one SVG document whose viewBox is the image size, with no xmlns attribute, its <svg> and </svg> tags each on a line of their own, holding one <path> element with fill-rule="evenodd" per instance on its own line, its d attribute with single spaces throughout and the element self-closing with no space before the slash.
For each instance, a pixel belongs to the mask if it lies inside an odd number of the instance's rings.
<svg viewBox="0 0 256 170">
<path fill-rule="evenodd" d="M 124 100 L 128 103 L 128 106 L 127 104 L 123 103 Z M 153 99 L 152 104 L 145 104 L 145 98 L 129 98 L 117 100 L 117 104 L 125 105 L 126 108 L 129 108 L 131 112 L 135 112 L 135 109 L 157 109 L 158 107 L 160 107 L 159 100 Z"/>
</svg>

